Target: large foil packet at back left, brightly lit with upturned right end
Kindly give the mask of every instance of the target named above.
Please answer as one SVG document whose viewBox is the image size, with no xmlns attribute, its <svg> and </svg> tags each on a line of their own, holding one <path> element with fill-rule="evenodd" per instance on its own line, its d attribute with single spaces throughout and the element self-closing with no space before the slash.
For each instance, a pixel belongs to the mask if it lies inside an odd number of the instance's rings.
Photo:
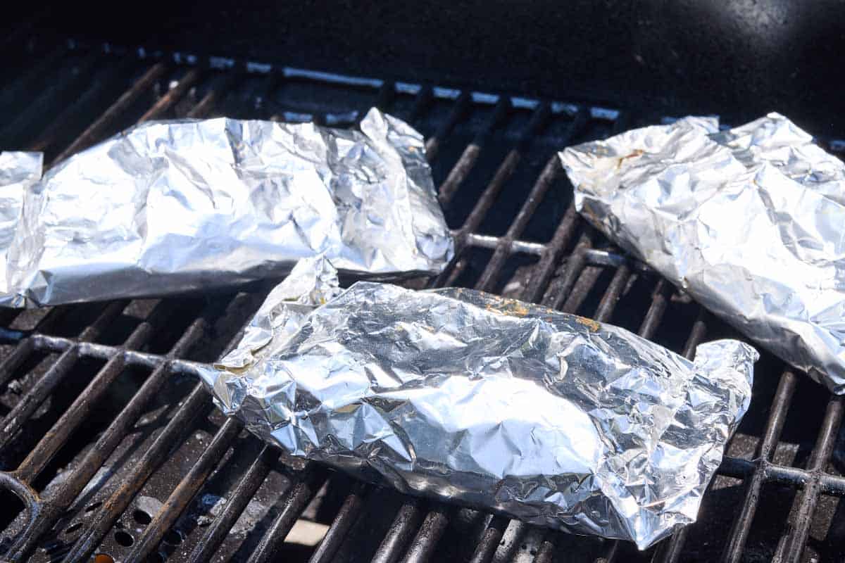
<svg viewBox="0 0 845 563">
<path fill-rule="evenodd" d="M 313 123 L 147 122 L 25 191 L 3 306 L 157 296 L 281 277 L 439 273 L 453 241 L 422 136 L 373 109 Z"/>
</svg>

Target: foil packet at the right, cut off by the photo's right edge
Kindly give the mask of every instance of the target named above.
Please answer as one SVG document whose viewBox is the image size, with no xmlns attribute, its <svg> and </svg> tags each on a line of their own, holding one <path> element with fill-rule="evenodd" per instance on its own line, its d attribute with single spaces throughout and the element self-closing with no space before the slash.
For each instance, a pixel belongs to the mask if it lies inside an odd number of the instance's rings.
<svg viewBox="0 0 845 563">
<path fill-rule="evenodd" d="M 782 360 L 845 393 L 845 165 L 786 117 L 687 117 L 560 154 L 575 207 Z"/>
</svg>

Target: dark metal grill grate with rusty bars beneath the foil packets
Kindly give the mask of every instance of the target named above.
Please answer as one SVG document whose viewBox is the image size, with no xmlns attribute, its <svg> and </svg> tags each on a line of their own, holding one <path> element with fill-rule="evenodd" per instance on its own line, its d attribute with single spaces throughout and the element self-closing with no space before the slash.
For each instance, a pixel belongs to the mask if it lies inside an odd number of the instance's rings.
<svg viewBox="0 0 845 563">
<path fill-rule="evenodd" d="M 10 38 L 9 43 L 19 41 Z M 8 45 L 7 45 L 8 46 Z M 629 328 L 688 357 L 735 336 L 575 214 L 556 150 L 644 124 L 606 109 L 186 54 L 30 41 L 6 57 L 0 146 L 56 162 L 134 122 L 314 119 L 377 105 L 421 130 L 456 284 Z M 754 116 L 749 116 L 749 118 Z M 842 149 L 831 142 L 828 148 Z M 842 399 L 764 355 L 700 522 L 656 549 L 357 483 L 264 447 L 191 376 L 271 283 L 237 294 L 0 310 L 0 554 L 8 560 L 817 561 L 842 556 Z M 295 522 L 328 526 L 317 547 Z"/>
</svg>

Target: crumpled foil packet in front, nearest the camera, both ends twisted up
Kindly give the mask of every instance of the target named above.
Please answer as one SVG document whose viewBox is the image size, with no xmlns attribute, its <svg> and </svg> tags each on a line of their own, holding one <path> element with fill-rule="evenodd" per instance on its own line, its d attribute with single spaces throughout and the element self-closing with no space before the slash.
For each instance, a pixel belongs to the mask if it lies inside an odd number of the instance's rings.
<svg viewBox="0 0 845 563">
<path fill-rule="evenodd" d="M 641 549 L 695 520 L 749 405 L 749 345 L 701 344 L 690 362 L 474 290 L 358 282 L 332 298 L 330 274 L 303 260 L 200 371 L 254 434 L 403 492 Z"/>
</svg>

